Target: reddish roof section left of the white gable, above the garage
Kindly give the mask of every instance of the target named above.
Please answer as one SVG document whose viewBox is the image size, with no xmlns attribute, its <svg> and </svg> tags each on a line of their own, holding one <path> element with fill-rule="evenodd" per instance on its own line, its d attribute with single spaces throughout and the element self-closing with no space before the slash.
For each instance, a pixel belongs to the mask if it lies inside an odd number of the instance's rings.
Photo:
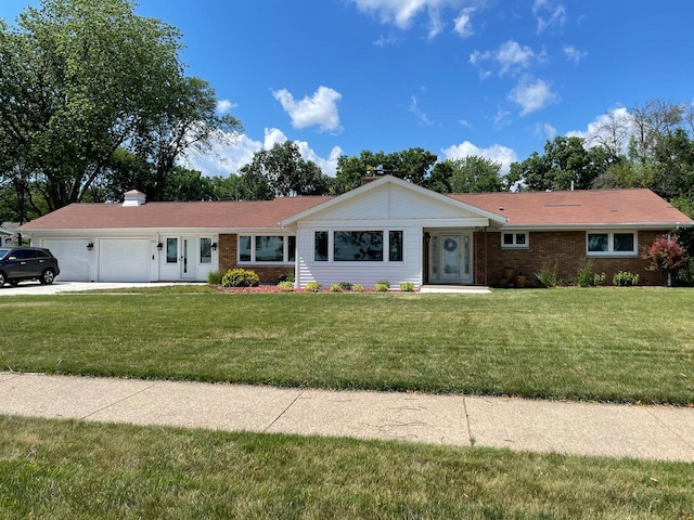
<svg viewBox="0 0 694 520">
<path fill-rule="evenodd" d="M 278 197 L 223 203 L 70 204 L 22 226 L 24 231 L 98 229 L 277 229 L 278 222 L 327 197 Z"/>
</svg>

